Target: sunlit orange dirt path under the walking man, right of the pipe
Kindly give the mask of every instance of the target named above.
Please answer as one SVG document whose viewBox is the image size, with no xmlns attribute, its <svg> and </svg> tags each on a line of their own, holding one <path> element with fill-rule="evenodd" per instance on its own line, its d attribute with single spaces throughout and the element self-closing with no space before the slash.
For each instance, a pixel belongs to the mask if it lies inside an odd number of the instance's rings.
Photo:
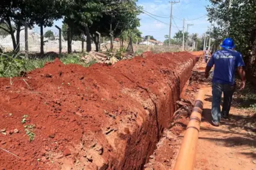
<svg viewBox="0 0 256 170">
<path fill-rule="evenodd" d="M 205 64 L 200 63 L 199 75 L 204 75 L 204 68 Z M 236 92 L 230 110 L 230 120 L 221 120 L 220 127 L 213 127 L 209 123 L 211 122 L 211 83 L 204 81 L 200 86 L 205 87 L 205 101 L 195 169 L 255 170 L 255 112 L 241 108 L 245 107 L 246 103 L 241 103 L 239 92 Z"/>
</svg>

